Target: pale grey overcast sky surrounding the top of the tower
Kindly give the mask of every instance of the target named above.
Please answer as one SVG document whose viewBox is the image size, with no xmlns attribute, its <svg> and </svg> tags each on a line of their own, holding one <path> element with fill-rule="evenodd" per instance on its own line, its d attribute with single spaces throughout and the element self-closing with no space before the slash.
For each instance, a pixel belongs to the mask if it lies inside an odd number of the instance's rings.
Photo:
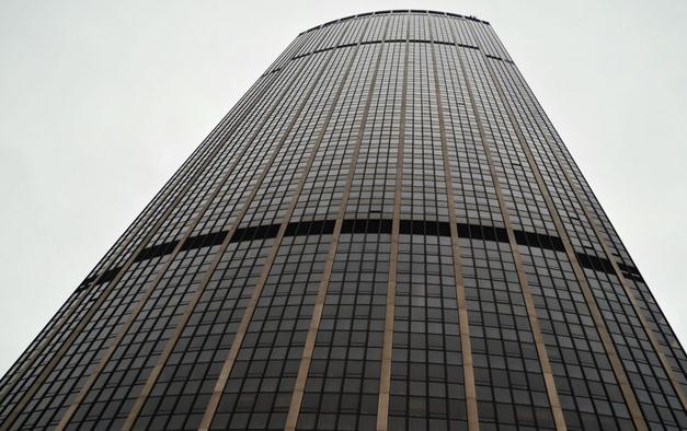
<svg viewBox="0 0 687 431">
<path fill-rule="evenodd" d="M 0 2 L 0 374 L 301 31 L 490 21 L 687 341 L 687 1 Z"/>
</svg>

